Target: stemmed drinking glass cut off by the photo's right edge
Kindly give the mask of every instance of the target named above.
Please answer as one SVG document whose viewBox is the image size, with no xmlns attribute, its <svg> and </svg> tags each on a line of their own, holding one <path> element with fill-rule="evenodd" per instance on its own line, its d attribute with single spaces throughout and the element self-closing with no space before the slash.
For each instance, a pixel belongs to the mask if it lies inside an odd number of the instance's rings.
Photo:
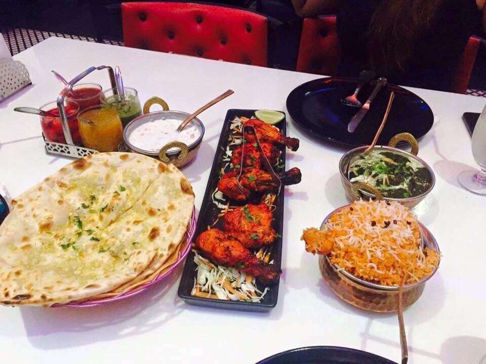
<svg viewBox="0 0 486 364">
<path fill-rule="evenodd" d="M 481 169 L 460 173 L 459 184 L 469 192 L 486 196 L 486 107 L 477 119 L 472 133 L 472 156 Z"/>
</svg>

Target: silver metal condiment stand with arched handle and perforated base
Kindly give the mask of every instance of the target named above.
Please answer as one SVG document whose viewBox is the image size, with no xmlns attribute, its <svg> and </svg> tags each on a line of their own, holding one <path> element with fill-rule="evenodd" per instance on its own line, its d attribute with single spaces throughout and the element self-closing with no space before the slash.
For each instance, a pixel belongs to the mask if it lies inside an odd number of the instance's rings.
<svg viewBox="0 0 486 364">
<path fill-rule="evenodd" d="M 46 137 L 44 134 L 42 135 L 44 138 L 44 143 L 45 143 L 45 148 L 47 153 L 52 153 L 52 154 L 60 154 L 68 157 L 74 157 L 74 158 L 81 158 L 85 157 L 89 154 L 94 154 L 98 153 L 97 150 L 90 149 L 90 148 L 85 148 L 85 147 L 80 147 L 74 145 L 74 142 L 72 141 L 72 135 L 71 131 L 69 130 L 69 124 L 67 122 L 67 116 L 66 112 L 64 110 L 64 99 L 66 98 L 67 94 L 71 92 L 72 87 L 85 78 L 88 74 L 93 72 L 94 70 L 102 70 L 102 69 L 107 69 L 108 74 L 110 76 L 110 82 L 111 82 L 111 87 L 113 88 L 113 92 L 117 95 L 118 91 L 116 88 L 116 81 L 115 81 L 115 73 L 113 71 L 113 68 L 111 66 L 98 66 L 98 67 L 90 67 L 83 73 L 78 74 L 76 77 L 74 77 L 71 81 L 68 82 L 66 87 L 64 87 L 61 90 L 61 93 L 57 97 L 57 108 L 59 110 L 59 116 L 61 117 L 61 126 L 62 126 L 62 131 L 64 133 L 64 138 L 66 140 L 66 144 L 64 143 L 55 143 L 55 142 L 50 142 L 46 140 Z"/>
</svg>

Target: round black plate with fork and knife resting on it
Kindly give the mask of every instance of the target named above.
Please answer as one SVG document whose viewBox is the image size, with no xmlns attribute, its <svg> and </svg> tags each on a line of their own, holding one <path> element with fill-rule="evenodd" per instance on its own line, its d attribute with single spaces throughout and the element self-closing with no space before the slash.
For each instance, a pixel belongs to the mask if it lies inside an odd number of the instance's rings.
<svg viewBox="0 0 486 364">
<path fill-rule="evenodd" d="M 361 88 L 358 100 L 363 104 L 375 83 Z M 356 85 L 355 78 L 336 77 L 303 83 L 287 98 L 287 110 L 298 125 L 319 138 L 352 147 L 369 145 L 381 123 L 390 92 L 393 90 L 395 99 L 378 145 L 388 144 L 392 136 L 400 132 L 409 132 L 419 139 L 432 127 L 434 115 L 427 103 L 409 90 L 389 84 L 381 89 L 356 130 L 348 132 L 348 123 L 359 108 L 345 106 L 341 100 L 351 95 Z"/>
</svg>

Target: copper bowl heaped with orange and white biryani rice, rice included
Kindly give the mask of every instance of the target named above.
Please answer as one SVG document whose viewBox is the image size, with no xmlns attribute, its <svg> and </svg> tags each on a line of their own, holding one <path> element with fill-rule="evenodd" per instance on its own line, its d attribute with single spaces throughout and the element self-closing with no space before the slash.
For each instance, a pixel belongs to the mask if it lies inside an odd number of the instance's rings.
<svg viewBox="0 0 486 364">
<path fill-rule="evenodd" d="M 436 272 L 440 251 L 410 209 L 393 201 L 358 200 L 304 230 L 306 250 L 319 254 L 321 274 L 346 302 L 376 312 L 408 307 Z"/>
</svg>

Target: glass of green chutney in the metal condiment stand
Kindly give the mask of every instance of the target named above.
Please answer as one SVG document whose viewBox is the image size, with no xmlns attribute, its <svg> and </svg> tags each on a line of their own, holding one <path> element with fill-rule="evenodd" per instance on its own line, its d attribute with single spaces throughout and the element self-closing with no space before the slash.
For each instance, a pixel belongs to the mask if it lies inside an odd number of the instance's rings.
<svg viewBox="0 0 486 364">
<path fill-rule="evenodd" d="M 123 89 L 125 92 L 124 100 L 121 100 L 114 88 L 110 88 L 103 92 L 101 102 L 104 105 L 116 109 L 121 119 L 121 124 L 125 127 L 137 116 L 142 115 L 142 107 L 140 106 L 140 100 L 138 99 L 138 93 L 135 88 L 124 87 Z"/>
</svg>

